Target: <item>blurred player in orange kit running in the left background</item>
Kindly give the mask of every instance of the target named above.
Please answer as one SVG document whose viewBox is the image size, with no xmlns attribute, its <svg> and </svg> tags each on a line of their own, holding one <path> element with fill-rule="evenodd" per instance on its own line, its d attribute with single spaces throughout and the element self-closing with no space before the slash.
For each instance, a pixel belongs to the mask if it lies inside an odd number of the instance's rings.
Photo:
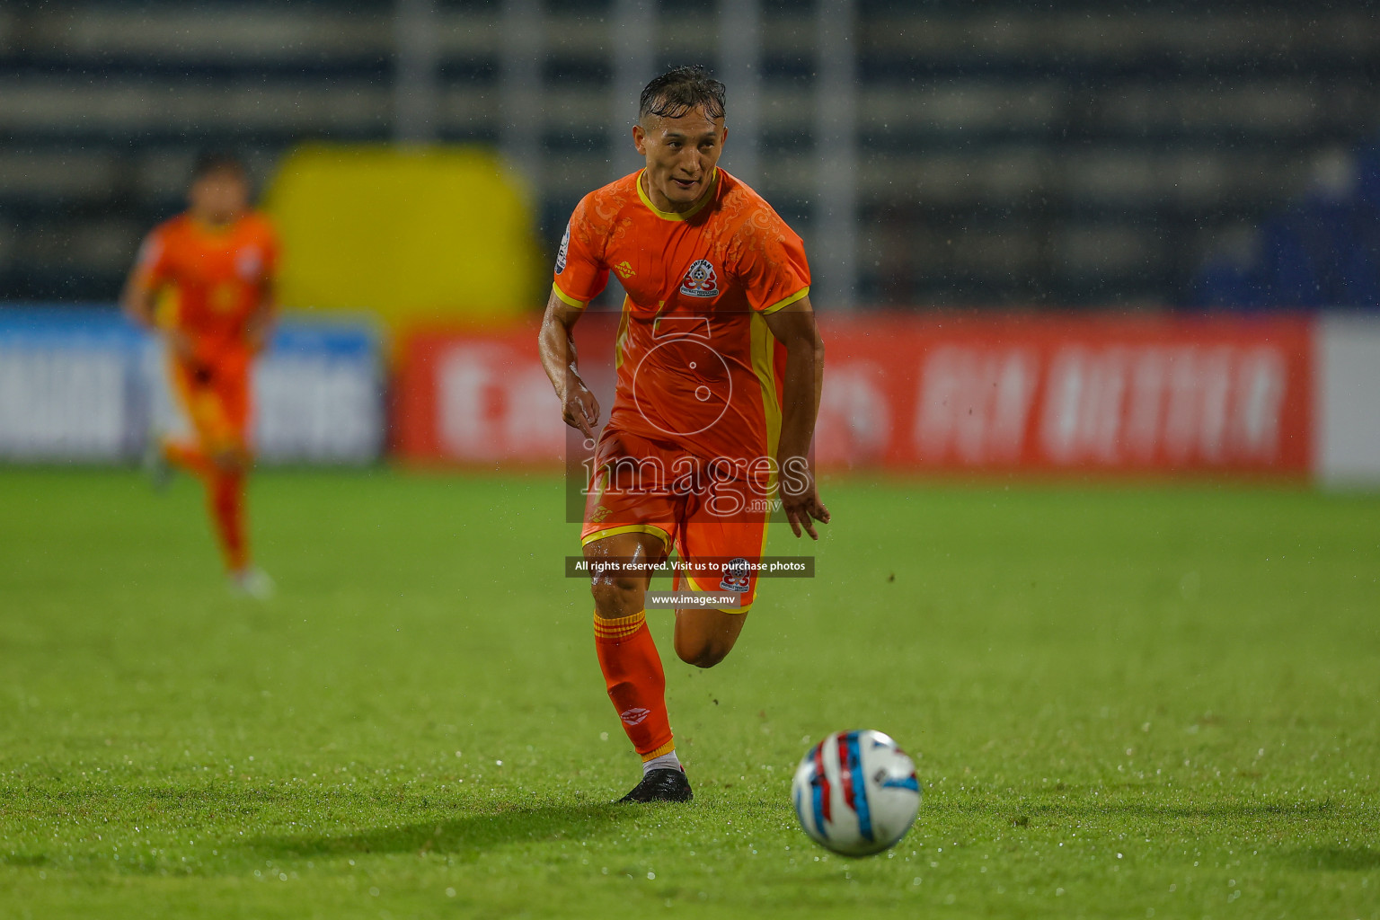
<svg viewBox="0 0 1380 920">
<path fill-rule="evenodd" d="M 188 199 L 145 239 L 121 298 L 167 341 L 172 392 L 195 433 L 153 446 L 150 461 L 201 479 L 230 589 L 264 599 L 272 582 L 250 561 L 244 477 L 250 370 L 273 319 L 277 237 L 250 210 L 248 174 L 233 156 L 203 154 Z"/>
</svg>

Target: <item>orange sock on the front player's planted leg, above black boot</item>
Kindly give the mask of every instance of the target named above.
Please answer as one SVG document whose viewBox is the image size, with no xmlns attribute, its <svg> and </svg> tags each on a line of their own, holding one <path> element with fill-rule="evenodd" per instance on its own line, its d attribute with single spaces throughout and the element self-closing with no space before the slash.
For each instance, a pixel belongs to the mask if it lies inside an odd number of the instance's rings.
<svg viewBox="0 0 1380 920">
<path fill-rule="evenodd" d="M 617 619 L 595 614 L 595 651 L 599 652 L 609 699 L 642 760 L 675 750 L 671 717 L 667 714 L 667 674 L 647 629 L 646 612 Z"/>
</svg>

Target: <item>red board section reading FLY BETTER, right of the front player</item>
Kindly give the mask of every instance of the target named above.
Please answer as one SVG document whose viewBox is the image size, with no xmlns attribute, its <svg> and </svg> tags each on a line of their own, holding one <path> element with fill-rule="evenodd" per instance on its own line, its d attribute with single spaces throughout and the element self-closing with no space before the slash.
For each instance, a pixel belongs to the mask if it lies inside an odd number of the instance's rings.
<svg viewBox="0 0 1380 920">
<path fill-rule="evenodd" d="M 816 450 L 849 466 L 1304 473 L 1310 341 L 1296 319 L 831 323 Z"/>
</svg>

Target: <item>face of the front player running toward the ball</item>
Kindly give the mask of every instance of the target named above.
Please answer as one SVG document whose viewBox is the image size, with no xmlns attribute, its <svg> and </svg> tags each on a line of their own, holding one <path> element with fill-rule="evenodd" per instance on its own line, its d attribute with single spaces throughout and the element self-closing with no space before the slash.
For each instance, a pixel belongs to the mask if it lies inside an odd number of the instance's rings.
<svg viewBox="0 0 1380 920">
<path fill-rule="evenodd" d="M 647 157 L 647 194 L 664 211 L 684 211 L 709 188 L 729 130 L 702 108 L 679 119 L 649 117 L 632 128 Z"/>
</svg>

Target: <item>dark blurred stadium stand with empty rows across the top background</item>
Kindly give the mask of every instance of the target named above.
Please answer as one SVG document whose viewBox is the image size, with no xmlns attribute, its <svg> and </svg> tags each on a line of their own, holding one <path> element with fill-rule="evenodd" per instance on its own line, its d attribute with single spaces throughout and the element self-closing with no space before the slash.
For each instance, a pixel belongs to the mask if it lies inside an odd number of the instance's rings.
<svg viewBox="0 0 1380 920">
<path fill-rule="evenodd" d="M 580 193 L 611 178 L 624 132 L 609 116 L 611 0 L 544 8 L 541 110 L 508 113 L 500 3 L 440 4 L 439 135 L 493 143 L 504 119 L 540 119 L 544 163 L 560 168 L 530 179 L 553 250 Z M 1304 298 L 1310 284 L 1362 290 L 1300 268 L 1329 233 L 1359 233 L 1351 211 L 1270 215 L 1319 156 L 1380 127 L 1368 3 L 858 10 L 864 302 L 1225 302 L 1219 288 L 1235 281 L 1213 254 L 1260 222 L 1279 255 L 1276 276 L 1250 288 L 1259 302 L 1329 302 Z M 712 65 L 713 11 L 678 3 L 658 62 Z M 112 298 L 139 234 L 179 207 L 203 145 L 236 145 L 266 178 L 302 141 L 386 139 L 391 17 L 378 1 L 6 4 L 0 298 Z M 809 240 L 813 4 L 763 4 L 763 17 L 759 185 Z M 1366 239 L 1373 251 L 1373 229 Z"/>
</svg>

